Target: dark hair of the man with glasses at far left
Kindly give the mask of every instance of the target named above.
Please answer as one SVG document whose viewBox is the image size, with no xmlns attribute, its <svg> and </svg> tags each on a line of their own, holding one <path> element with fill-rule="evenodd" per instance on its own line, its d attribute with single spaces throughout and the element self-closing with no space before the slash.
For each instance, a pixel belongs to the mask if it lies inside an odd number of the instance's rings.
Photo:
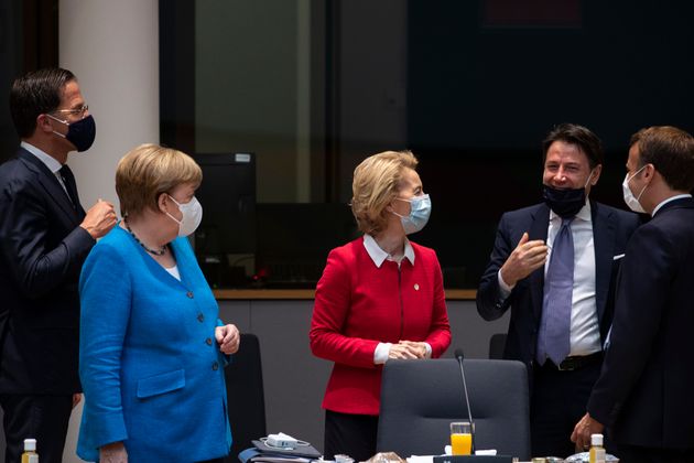
<svg viewBox="0 0 694 463">
<path fill-rule="evenodd" d="M 76 79 L 73 73 L 59 67 L 34 71 L 14 79 L 10 90 L 10 112 L 20 138 L 34 133 L 39 115 L 56 110 L 65 85 Z"/>
</svg>

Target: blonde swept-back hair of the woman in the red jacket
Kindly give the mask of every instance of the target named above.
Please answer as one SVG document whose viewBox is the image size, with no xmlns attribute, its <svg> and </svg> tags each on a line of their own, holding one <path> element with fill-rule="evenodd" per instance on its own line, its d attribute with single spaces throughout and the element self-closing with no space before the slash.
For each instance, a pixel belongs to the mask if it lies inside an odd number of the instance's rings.
<svg viewBox="0 0 694 463">
<path fill-rule="evenodd" d="M 406 169 L 416 169 L 411 151 L 384 151 L 365 159 L 355 169 L 351 212 L 359 229 L 377 236 L 386 229 L 386 207 L 398 196 Z"/>
</svg>

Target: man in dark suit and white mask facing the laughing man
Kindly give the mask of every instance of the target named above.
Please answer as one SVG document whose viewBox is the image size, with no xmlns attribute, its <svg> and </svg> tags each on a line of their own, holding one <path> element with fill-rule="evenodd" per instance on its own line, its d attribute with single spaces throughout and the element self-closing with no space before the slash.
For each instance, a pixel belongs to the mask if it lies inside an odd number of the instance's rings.
<svg viewBox="0 0 694 463">
<path fill-rule="evenodd" d="M 608 427 L 623 462 L 694 462 L 694 138 L 631 138 L 625 201 L 652 219 L 627 246 L 605 363 L 572 439 Z"/>
</svg>

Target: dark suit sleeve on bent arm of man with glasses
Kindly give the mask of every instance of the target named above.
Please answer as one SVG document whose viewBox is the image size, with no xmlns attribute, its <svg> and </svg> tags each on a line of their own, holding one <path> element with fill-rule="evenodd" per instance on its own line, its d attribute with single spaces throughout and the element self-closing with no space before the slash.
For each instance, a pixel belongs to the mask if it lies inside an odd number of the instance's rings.
<svg viewBox="0 0 694 463">
<path fill-rule="evenodd" d="M 0 247 L 18 288 L 40 298 L 68 281 L 77 283 L 82 263 L 95 245 L 77 226 L 57 245 L 50 243 L 48 201 L 34 185 L 10 182 L 0 198 Z"/>
</svg>

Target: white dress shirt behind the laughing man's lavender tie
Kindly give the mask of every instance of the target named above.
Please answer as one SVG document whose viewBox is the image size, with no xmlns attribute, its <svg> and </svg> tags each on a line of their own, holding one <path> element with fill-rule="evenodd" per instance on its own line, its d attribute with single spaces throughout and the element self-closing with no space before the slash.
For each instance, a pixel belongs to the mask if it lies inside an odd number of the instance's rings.
<svg viewBox="0 0 694 463">
<path fill-rule="evenodd" d="M 550 211 L 550 225 L 547 227 L 547 247 L 550 252 L 544 263 L 546 274 L 552 257 L 554 238 L 562 225 L 562 218 Z M 589 355 L 601 351 L 600 326 L 598 324 L 595 284 L 595 243 L 593 237 L 593 218 L 590 203 L 578 211 L 571 224 L 571 233 L 574 239 L 574 289 L 571 309 L 571 333 L 568 355 Z M 502 298 L 508 298 L 512 287 L 501 278 L 499 270 L 498 280 Z"/>
</svg>

